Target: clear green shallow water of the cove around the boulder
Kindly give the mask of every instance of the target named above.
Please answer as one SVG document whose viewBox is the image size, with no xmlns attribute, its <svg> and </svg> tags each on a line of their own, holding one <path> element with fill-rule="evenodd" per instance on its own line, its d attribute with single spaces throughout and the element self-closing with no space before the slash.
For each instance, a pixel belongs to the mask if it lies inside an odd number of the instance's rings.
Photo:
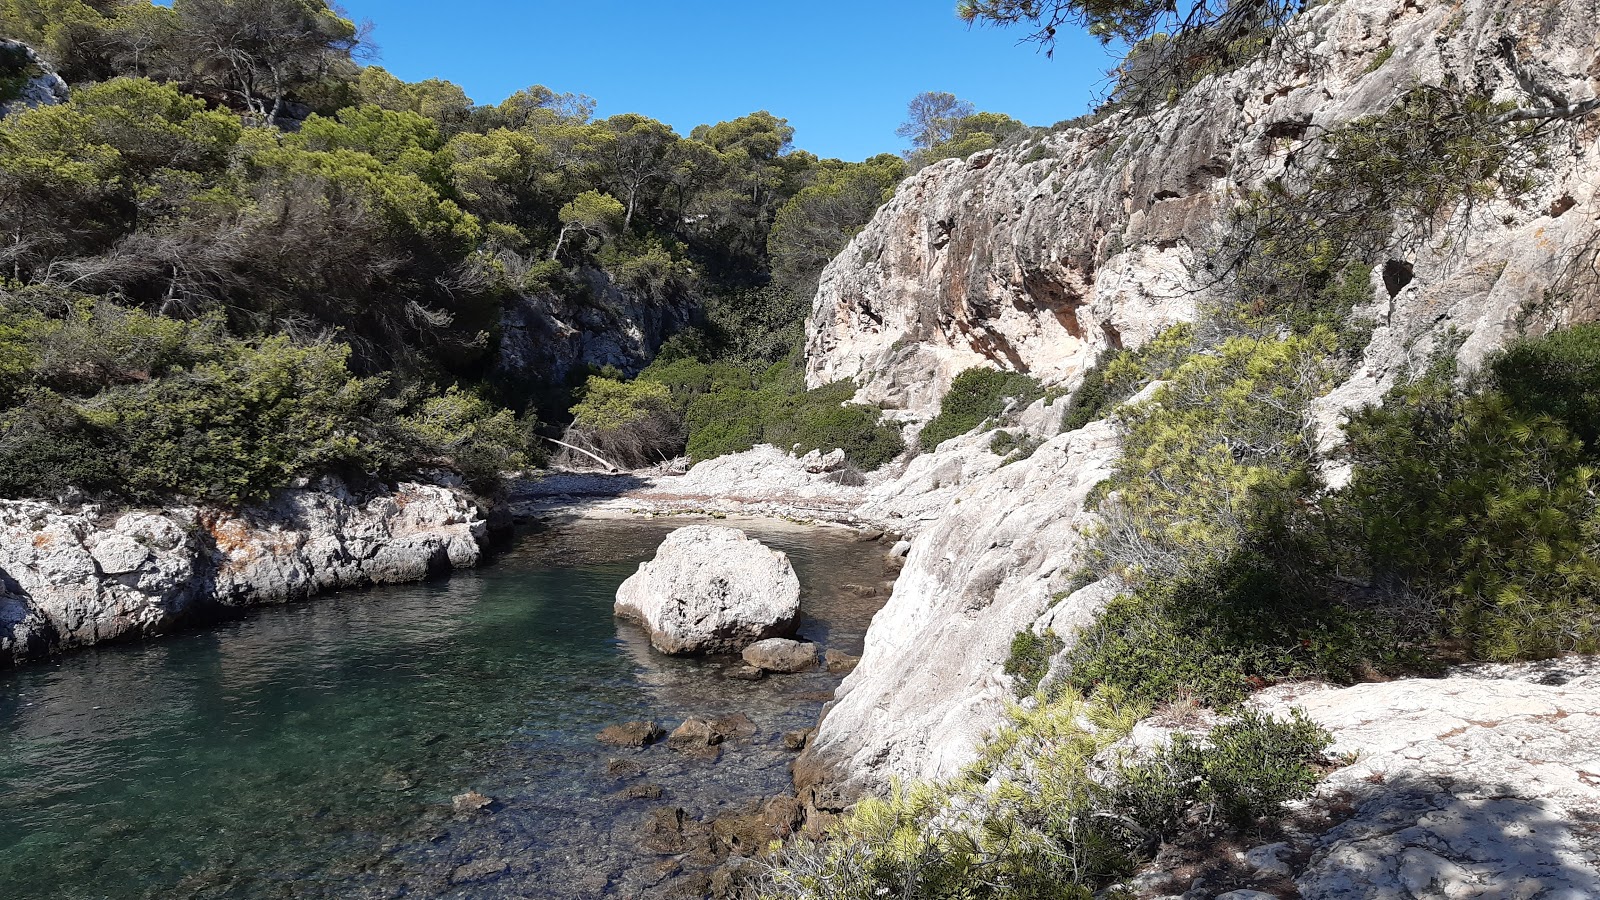
<svg viewBox="0 0 1600 900">
<path fill-rule="evenodd" d="M 782 732 L 837 684 L 726 679 L 613 620 L 616 586 L 680 524 L 560 527 L 448 581 L 0 673 L 0 897 L 648 895 L 650 809 L 781 793 Z M 859 653 L 882 601 L 840 588 L 880 583 L 883 549 L 747 530 L 794 560 L 802 634 Z M 720 762 L 594 740 L 728 713 L 760 733 Z M 618 757 L 642 775 L 611 775 Z M 622 799 L 640 781 L 662 798 Z M 498 809 L 453 814 L 469 788 Z"/>
</svg>

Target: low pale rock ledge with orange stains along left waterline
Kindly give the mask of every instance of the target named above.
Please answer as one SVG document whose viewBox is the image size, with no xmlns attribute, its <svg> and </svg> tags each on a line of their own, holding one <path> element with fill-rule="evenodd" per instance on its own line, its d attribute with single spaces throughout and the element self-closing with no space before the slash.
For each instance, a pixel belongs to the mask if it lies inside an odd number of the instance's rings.
<svg viewBox="0 0 1600 900">
<path fill-rule="evenodd" d="M 485 533 L 472 500 L 426 484 L 325 479 L 237 512 L 0 501 L 0 663 L 470 567 Z"/>
</svg>

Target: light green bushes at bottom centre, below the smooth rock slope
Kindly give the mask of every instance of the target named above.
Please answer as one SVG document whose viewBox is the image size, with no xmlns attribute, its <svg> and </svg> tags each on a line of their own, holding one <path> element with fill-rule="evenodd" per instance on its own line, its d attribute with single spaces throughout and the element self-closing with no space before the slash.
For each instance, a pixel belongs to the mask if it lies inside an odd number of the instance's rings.
<svg viewBox="0 0 1600 900">
<path fill-rule="evenodd" d="M 1197 815 L 1248 828 L 1304 798 L 1328 735 L 1294 713 L 1243 714 L 1210 741 L 1096 759 L 1139 708 L 1115 697 L 1013 709 L 979 764 L 861 801 L 824 842 L 786 849 L 763 897 L 1088 900 Z"/>
</svg>

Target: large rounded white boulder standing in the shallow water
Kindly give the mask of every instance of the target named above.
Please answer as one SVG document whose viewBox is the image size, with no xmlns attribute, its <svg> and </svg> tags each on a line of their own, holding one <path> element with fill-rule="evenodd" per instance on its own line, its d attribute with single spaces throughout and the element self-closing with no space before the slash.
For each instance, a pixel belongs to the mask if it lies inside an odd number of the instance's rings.
<svg viewBox="0 0 1600 900">
<path fill-rule="evenodd" d="M 736 653 L 794 631 L 800 580 L 787 556 L 738 528 L 690 525 L 622 583 L 616 615 L 662 653 Z"/>
</svg>

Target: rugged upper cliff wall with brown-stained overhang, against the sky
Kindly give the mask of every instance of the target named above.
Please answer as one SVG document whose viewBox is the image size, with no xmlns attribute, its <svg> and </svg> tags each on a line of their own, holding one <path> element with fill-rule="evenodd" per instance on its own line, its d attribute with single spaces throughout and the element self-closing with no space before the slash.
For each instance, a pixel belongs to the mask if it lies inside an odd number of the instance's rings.
<svg viewBox="0 0 1600 900">
<path fill-rule="evenodd" d="M 1326 128 L 1382 112 L 1414 85 L 1456 82 L 1530 107 L 1594 98 L 1597 16 L 1597 0 L 1323 3 L 1302 16 L 1309 64 L 1246 66 L 1157 114 L 931 165 L 822 274 L 808 381 L 856 378 L 859 399 L 917 415 L 971 365 L 1070 386 L 1099 351 L 1194 315 L 1203 285 L 1192 266 L 1227 211 L 1291 157 L 1325 152 Z M 1555 165 L 1531 199 L 1453 223 L 1402 259 L 1410 285 L 1374 290 L 1382 330 L 1360 384 L 1392 380 L 1448 327 L 1474 362 L 1594 247 L 1594 125 L 1555 131 Z M 1555 314 L 1594 317 L 1594 283 L 1579 295 Z M 1365 396 L 1352 388 L 1341 400 Z"/>
</svg>

